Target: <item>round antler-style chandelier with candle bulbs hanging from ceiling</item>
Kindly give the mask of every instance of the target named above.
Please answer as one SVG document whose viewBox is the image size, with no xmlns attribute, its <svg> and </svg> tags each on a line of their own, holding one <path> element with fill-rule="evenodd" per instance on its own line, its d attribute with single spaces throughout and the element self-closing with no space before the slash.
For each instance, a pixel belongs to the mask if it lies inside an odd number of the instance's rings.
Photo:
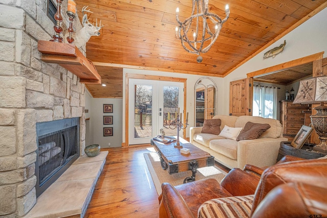
<svg viewBox="0 0 327 218">
<path fill-rule="evenodd" d="M 225 8 L 226 17 L 222 20 L 218 15 L 208 11 L 208 3 L 209 0 L 192 0 L 192 14 L 183 22 L 179 20 L 179 8 L 176 9 L 176 20 L 179 23 L 179 27 L 176 27 L 176 38 L 180 39 L 183 48 L 189 53 L 200 55 L 200 53 L 208 52 L 217 40 L 223 23 L 229 17 L 228 5 Z M 201 26 L 199 22 L 202 22 Z M 199 56 L 197 62 L 201 61 L 202 57 Z"/>
</svg>

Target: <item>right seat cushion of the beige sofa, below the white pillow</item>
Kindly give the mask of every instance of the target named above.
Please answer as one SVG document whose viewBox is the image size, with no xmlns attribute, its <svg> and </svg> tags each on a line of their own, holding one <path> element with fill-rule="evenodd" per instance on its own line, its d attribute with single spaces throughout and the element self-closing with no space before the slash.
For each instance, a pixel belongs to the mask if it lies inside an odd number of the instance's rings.
<svg viewBox="0 0 327 218">
<path fill-rule="evenodd" d="M 214 139 L 210 141 L 209 148 L 230 159 L 237 160 L 237 145 L 239 142 L 232 139 Z"/>
</svg>

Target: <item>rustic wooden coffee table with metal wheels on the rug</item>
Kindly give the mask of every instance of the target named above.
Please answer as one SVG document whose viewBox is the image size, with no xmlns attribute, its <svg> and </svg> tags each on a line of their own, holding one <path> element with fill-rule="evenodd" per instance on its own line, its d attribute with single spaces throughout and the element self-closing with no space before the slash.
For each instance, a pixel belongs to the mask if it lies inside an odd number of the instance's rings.
<svg viewBox="0 0 327 218">
<path fill-rule="evenodd" d="M 168 169 L 169 174 L 192 171 L 192 177 L 186 177 L 184 183 L 195 181 L 197 168 L 214 166 L 215 159 L 209 153 L 195 147 L 190 142 L 179 138 L 183 148 L 190 149 L 190 154 L 181 154 L 180 148 L 175 148 L 175 142 L 164 143 L 151 139 L 151 144 L 160 156 L 162 169 Z"/>
</svg>

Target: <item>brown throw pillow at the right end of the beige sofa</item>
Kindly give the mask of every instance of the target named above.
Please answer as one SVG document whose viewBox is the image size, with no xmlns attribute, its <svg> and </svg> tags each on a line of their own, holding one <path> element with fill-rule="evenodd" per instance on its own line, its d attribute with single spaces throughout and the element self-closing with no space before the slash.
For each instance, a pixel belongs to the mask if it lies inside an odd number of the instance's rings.
<svg viewBox="0 0 327 218">
<path fill-rule="evenodd" d="M 269 124 L 255 124 L 252 122 L 247 122 L 243 130 L 237 136 L 236 140 L 256 139 L 269 128 Z"/>
</svg>

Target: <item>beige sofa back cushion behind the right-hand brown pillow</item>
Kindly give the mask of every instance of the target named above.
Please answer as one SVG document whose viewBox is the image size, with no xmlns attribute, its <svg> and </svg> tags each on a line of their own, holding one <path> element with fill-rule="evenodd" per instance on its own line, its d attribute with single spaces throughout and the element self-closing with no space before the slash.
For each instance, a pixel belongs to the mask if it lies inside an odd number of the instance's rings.
<svg viewBox="0 0 327 218">
<path fill-rule="evenodd" d="M 239 116 L 235 122 L 235 127 L 244 127 L 247 122 L 256 124 L 269 124 L 270 128 L 261 134 L 259 138 L 278 138 L 283 137 L 283 128 L 279 120 L 271 118 L 263 118 L 260 116 Z"/>
</svg>

